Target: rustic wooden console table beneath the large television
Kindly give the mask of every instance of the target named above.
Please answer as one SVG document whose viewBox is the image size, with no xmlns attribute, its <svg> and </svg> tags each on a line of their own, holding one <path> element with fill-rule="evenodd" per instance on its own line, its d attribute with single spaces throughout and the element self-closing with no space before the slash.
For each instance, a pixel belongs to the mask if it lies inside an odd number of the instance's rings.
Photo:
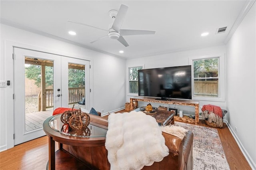
<svg viewBox="0 0 256 170">
<path fill-rule="evenodd" d="M 174 116 L 174 121 L 184 122 L 184 123 L 192 123 L 192 124 L 195 124 L 195 125 L 198 125 L 198 123 L 199 123 L 199 101 L 176 100 L 176 99 L 172 99 L 171 101 L 164 101 L 164 100 L 156 100 L 156 99 L 151 98 L 151 97 L 136 97 L 136 98 L 130 98 L 131 108 L 133 108 L 133 103 L 134 102 L 135 102 L 135 108 L 138 108 L 138 101 L 195 107 L 195 119 L 190 119 L 190 118 L 187 118 L 187 117 Z"/>
</svg>

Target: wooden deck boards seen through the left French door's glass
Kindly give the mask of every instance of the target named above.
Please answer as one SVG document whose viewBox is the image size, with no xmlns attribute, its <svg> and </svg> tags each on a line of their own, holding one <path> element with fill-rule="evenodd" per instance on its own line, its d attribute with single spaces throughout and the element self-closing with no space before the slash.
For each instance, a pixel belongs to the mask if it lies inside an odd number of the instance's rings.
<svg viewBox="0 0 256 170">
<path fill-rule="evenodd" d="M 52 116 L 53 110 L 26 114 L 26 132 L 43 127 L 45 119 Z"/>
</svg>

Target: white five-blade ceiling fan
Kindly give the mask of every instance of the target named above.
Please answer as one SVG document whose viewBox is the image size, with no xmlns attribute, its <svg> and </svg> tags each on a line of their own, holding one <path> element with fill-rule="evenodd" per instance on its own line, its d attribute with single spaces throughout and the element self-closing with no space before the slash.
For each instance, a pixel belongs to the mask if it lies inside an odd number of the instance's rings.
<svg viewBox="0 0 256 170">
<path fill-rule="evenodd" d="M 129 44 L 126 42 L 126 40 L 124 39 L 123 36 L 155 34 L 155 31 L 150 31 L 150 30 L 123 30 L 123 29 L 120 29 L 124 22 L 124 17 L 126 16 L 127 11 L 128 11 L 128 6 L 126 6 L 124 4 L 122 4 L 120 6 L 118 11 L 110 10 L 108 13 L 109 13 L 110 17 L 113 18 L 113 24 L 110 24 L 110 27 L 108 30 L 90 26 L 90 25 L 87 25 L 87 24 L 84 24 L 81 22 L 76 22 L 76 21 L 71 21 L 71 20 L 68 20 L 68 22 L 72 22 L 72 23 L 80 24 L 80 25 L 84 25 L 84 26 L 89 26 L 92 28 L 96 28 L 96 29 L 100 29 L 100 30 L 104 30 L 104 31 L 108 32 L 108 35 L 98 38 L 97 40 L 94 40 L 90 43 L 94 43 L 98 40 L 101 40 L 102 38 L 109 37 L 111 39 L 118 40 L 125 47 L 128 47 Z"/>
</svg>

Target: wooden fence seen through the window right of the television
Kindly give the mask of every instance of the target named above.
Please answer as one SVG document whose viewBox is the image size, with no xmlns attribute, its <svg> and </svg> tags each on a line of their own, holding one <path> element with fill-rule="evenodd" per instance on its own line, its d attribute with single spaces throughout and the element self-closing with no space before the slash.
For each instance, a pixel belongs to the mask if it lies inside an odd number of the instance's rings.
<svg viewBox="0 0 256 170">
<path fill-rule="evenodd" d="M 218 81 L 194 81 L 194 95 L 218 97 Z"/>
</svg>

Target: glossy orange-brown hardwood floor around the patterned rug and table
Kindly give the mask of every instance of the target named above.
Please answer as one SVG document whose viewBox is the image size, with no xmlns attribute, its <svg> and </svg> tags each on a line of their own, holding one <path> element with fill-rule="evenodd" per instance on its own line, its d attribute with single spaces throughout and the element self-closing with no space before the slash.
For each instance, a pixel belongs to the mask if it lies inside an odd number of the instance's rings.
<svg viewBox="0 0 256 170">
<path fill-rule="evenodd" d="M 202 120 L 199 121 L 199 125 L 208 127 Z M 227 125 L 224 123 L 222 128 L 217 129 L 230 169 L 251 170 Z M 55 148 L 58 148 L 57 144 Z M 45 170 L 47 161 L 47 136 L 19 144 L 14 146 L 14 148 L 0 152 L 0 170 Z"/>
</svg>

